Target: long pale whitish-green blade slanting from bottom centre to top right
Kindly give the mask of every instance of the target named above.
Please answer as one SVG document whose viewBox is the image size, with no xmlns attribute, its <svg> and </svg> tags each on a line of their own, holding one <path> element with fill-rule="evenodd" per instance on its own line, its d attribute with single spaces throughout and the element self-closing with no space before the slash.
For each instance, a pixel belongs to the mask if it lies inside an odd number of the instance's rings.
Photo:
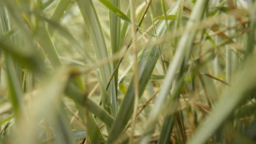
<svg viewBox="0 0 256 144">
<path fill-rule="evenodd" d="M 193 13 L 191 14 L 191 17 L 189 18 L 186 28 L 192 29 L 193 23 L 200 21 L 207 3 L 208 3 L 208 0 L 203 0 L 203 1 L 199 1 L 196 3 Z M 170 88 L 172 86 L 174 77 L 176 76 L 176 71 L 181 67 L 184 56 L 188 55 L 188 53 L 190 52 L 194 35 L 195 35 L 195 32 L 185 33 L 182 36 L 181 40 L 179 41 L 177 50 L 174 53 L 172 64 L 168 68 L 166 78 L 163 82 L 163 83 L 165 83 L 165 85 L 162 85 L 160 92 L 159 92 L 159 97 L 156 98 L 155 105 L 154 105 L 152 111 L 150 112 L 148 122 L 145 125 L 146 130 L 145 130 L 144 137 L 143 137 L 141 143 L 148 143 L 148 141 L 150 139 L 150 133 L 152 132 L 153 128 L 155 127 L 156 118 L 161 113 L 161 110 L 164 109 L 164 107 L 167 105 L 166 98 L 167 98 L 168 93 L 170 92 Z"/>
</svg>

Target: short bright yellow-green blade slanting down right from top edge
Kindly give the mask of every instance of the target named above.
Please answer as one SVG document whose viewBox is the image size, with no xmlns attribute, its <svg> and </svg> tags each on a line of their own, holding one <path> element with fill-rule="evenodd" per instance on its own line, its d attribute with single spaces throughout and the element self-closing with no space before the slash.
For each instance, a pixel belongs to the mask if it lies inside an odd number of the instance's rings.
<svg viewBox="0 0 256 144">
<path fill-rule="evenodd" d="M 118 17 L 120 17 L 121 19 L 127 21 L 127 22 L 131 22 L 130 18 L 128 16 L 126 16 L 121 10 L 119 10 L 119 8 L 109 2 L 108 0 L 98 0 L 100 1 L 103 5 L 105 5 L 105 7 L 107 7 L 110 11 L 112 11 L 113 14 L 117 15 Z"/>
</svg>

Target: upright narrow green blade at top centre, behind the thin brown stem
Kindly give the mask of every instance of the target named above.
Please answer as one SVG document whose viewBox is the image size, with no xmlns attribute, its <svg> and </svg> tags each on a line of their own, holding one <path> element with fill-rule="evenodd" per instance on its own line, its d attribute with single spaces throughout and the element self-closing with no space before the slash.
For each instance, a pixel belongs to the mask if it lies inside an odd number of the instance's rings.
<svg viewBox="0 0 256 144">
<path fill-rule="evenodd" d="M 112 3 L 120 8 L 120 0 L 112 0 Z M 111 50 L 112 53 L 117 53 L 120 51 L 120 18 L 109 12 L 109 26 L 110 26 L 110 40 L 111 40 Z M 113 61 L 113 68 L 117 66 L 118 60 Z M 113 105 L 113 109 L 115 115 L 117 115 L 117 92 L 118 92 L 118 70 L 117 73 L 114 75 L 114 87 L 115 87 L 115 95 L 111 97 L 111 103 Z"/>
</svg>

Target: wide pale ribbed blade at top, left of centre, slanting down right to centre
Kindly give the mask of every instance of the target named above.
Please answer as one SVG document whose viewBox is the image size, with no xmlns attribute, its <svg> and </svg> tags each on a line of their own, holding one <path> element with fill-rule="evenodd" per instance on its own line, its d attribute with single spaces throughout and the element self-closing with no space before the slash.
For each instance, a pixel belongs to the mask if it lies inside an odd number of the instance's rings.
<svg viewBox="0 0 256 144">
<path fill-rule="evenodd" d="M 91 43 L 94 48 L 97 61 L 101 61 L 103 59 L 106 60 L 106 58 L 108 58 L 108 51 L 94 4 L 91 0 L 86 2 L 83 0 L 77 0 L 77 4 L 84 18 L 85 25 L 88 29 L 88 33 L 90 35 Z M 103 107 L 109 113 L 111 113 L 111 115 L 114 115 L 112 104 L 109 103 L 109 99 L 111 99 L 111 97 L 115 95 L 115 89 L 113 87 L 113 84 L 111 85 L 110 89 L 108 89 L 108 95 L 104 93 L 104 88 L 107 87 L 108 80 L 111 75 L 110 64 L 100 66 L 99 71 L 102 83 L 101 88 L 103 94 Z"/>
</svg>

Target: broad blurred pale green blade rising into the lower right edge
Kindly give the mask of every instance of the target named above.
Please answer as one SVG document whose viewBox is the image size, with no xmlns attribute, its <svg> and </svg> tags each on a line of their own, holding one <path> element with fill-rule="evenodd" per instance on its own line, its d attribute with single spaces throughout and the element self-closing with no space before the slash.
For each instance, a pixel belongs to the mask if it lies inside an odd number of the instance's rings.
<svg viewBox="0 0 256 144">
<path fill-rule="evenodd" d="M 231 83 L 231 87 L 228 87 L 217 101 L 211 115 L 205 119 L 205 123 L 200 125 L 194 136 L 188 141 L 189 144 L 205 143 L 217 128 L 224 123 L 225 119 L 234 112 L 235 107 L 249 97 L 248 92 L 253 89 L 255 91 L 256 67 L 253 64 L 255 57 L 248 60 L 245 67 L 235 76 L 235 81 Z M 252 67 L 252 65 L 254 66 Z M 232 95 L 232 98 L 230 98 L 230 95 Z"/>
</svg>

